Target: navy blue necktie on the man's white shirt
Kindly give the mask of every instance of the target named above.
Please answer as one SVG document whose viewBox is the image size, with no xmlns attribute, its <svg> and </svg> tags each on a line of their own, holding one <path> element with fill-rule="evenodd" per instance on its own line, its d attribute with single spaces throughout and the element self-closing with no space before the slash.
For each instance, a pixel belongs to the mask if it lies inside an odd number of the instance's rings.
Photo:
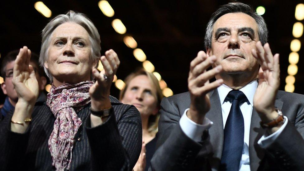
<svg viewBox="0 0 304 171">
<path fill-rule="evenodd" d="M 247 102 L 247 97 L 239 90 L 231 90 L 226 99 L 232 104 L 224 129 L 221 170 L 237 171 L 240 167 L 244 145 L 244 118 L 240 104 Z"/>
</svg>

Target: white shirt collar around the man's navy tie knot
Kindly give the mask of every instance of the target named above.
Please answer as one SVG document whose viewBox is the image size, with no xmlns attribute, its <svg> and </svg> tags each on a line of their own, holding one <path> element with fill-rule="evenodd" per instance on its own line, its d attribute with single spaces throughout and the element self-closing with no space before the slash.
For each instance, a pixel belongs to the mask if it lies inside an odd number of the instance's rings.
<svg viewBox="0 0 304 171">
<path fill-rule="evenodd" d="M 242 91 L 245 94 L 245 96 L 247 97 L 251 106 L 253 106 L 253 96 L 254 96 L 254 93 L 255 93 L 257 87 L 258 87 L 258 81 L 253 80 L 240 89 L 240 91 Z M 221 105 L 224 103 L 227 94 L 231 90 L 232 90 L 232 88 L 228 87 L 226 84 L 222 84 L 222 85 L 220 85 L 220 87 L 217 88 L 217 91 L 220 96 Z"/>
</svg>

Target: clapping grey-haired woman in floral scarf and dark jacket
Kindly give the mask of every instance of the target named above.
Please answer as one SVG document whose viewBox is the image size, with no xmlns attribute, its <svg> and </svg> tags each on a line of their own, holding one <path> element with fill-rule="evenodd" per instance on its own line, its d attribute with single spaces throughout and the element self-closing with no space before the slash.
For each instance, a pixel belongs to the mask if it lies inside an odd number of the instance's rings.
<svg viewBox="0 0 304 171">
<path fill-rule="evenodd" d="M 31 51 L 20 49 L 13 70 L 18 102 L 0 126 L 2 170 L 132 170 L 141 149 L 140 114 L 110 96 L 120 61 L 113 50 L 101 57 L 100 50 L 84 14 L 52 19 L 42 31 L 40 64 L 52 82 L 42 103 Z"/>
</svg>

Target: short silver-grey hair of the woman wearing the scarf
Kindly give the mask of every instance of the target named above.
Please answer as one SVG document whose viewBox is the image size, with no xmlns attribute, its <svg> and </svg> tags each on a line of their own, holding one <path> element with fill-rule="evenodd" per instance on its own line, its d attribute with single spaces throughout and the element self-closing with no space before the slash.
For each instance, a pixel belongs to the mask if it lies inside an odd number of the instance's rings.
<svg viewBox="0 0 304 171">
<path fill-rule="evenodd" d="M 74 22 L 83 26 L 83 28 L 88 31 L 91 42 L 91 56 L 90 60 L 94 61 L 100 58 L 100 36 L 97 28 L 94 26 L 93 22 L 83 13 L 78 13 L 74 11 L 69 11 L 66 14 L 60 14 L 53 18 L 42 30 L 42 41 L 39 63 L 44 67 L 45 74 L 50 78 L 50 82 L 53 82 L 53 76 L 50 74 L 49 70 L 45 68 L 44 63 L 48 60 L 48 51 L 50 47 L 51 36 L 53 31 L 61 24 L 66 22 Z M 98 66 L 98 63 L 95 67 Z M 92 74 L 91 74 L 92 79 Z"/>
</svg>

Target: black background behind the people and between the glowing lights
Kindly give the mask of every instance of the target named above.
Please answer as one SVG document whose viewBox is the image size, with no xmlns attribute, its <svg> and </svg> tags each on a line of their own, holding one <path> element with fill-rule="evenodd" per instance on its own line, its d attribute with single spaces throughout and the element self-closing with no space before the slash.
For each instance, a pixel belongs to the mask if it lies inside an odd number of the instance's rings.
<svg viewBox="0 0 304 171">
<path fill-rule="evenodd" d="M 34 8 L 36 1 L 5 1 L 0 2 L 0 53 L 1 59 L 7 52 L 26 45 L 32 51 L 39 53 L 41 45 L 41 30 L 50 20 L 42 16 Z M 102 54 L 108 49 L 114 49 L 121 65 L 117 77 L 124 79 L 130 72 L 141 66 L 133 56 L 133 49 L 123 43 L 125 35 L 131 35 L 147 55 L 155 71 L 173 90 L 174 94 L 187 91 L 187 78 L 190 61 L 196 57 L 199 50 L 205 50 L 203 45 L 206 24 L 220 5 L 226 0 L 127 0 L 108 1 L 115 11 L 113 17 L 106 17 L 99 9 L 98 1 L 43 1 L 52 11 L 52 17 L 75 10 L 88 15 L 101 35 Z M 292 27 L 297 20 L 294 17 L 295 7 L 303 1 L 275 0 L 240 0 L 254 7 L 264 6 L 263 15 L 269 30 L 269 44 L 273 54 L 280 54 L 281 84 L 284 90 L 288 55 L 291 52 L 290 42 L 293 38 Z M 114 31 L 111 22 L 119 18 L 127 28 L 125 35 Z M 302 21 L 303 22 L 303 21 Z M 303 36 L 299 38 L 303 42 Z M 303 48 L 302 48 L 303 49 Z M 300 55 L 298 74 L 295 75 L 295 93 L 304 93 L 303 50 Z M 1 60 L 0 59 L 0 60 Z M 118 97 L 119 90 L 113 85 L 111 94 Z M 4 101 L 1 91 L 0 102 Z"/>
</svg>

